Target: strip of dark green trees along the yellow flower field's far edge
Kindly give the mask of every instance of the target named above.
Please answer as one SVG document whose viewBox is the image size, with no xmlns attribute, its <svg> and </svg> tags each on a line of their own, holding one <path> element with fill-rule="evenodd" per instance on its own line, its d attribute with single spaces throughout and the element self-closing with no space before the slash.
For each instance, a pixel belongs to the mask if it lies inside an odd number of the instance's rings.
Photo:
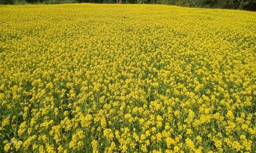
<svg viewBox="0 0 256 153">
<path fill-rule="evenodd" d="M 124 4 L 173 4 L 188 7 L 229 8 L 256 11 L 256 0 L 0 0 L 0 4 L 24 3 L 124 3 Z"/>
</svg>

